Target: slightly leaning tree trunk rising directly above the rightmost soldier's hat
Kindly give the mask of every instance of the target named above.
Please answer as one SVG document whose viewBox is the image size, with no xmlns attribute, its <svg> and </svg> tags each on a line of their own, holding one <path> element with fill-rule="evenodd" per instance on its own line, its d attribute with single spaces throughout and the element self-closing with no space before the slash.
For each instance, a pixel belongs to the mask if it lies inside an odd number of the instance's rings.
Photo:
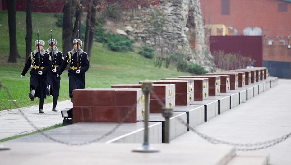
<svg viewBox="0 0 291 165">
<path fill-rule="evenodd" d="M 79 26 L 80 26 L 80 31 L 79 31 L 79 39 L 82 40 L 82 22 L 81 22 L 81 18 L 82 18 L 82 14 L 83 14 L 83 11 L 84 11 L 84 2 L 85 0 L 81 0 L 79 2 L 77 2 L 77 5 L 76 5 L 76 21 L 75 21 L 75 24 L 74 24 L 74 29 L 73 29 L 73 33 L 72 33 L 72 40 L 74 40 L 75 38 L 77 38 L 77 35 L 78 35 L 78 21 L 79 21 Z"/>
</svg>

